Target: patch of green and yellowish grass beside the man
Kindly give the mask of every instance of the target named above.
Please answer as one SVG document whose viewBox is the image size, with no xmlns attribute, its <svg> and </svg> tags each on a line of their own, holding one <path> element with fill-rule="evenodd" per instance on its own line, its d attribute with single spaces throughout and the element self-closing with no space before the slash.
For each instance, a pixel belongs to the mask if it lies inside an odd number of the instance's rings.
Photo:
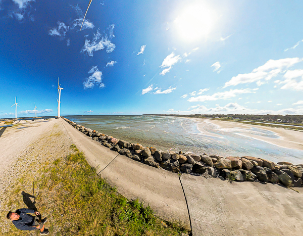
<svg viewBox="0 0 303 236">
<path fill-rule="evenodd" d="M 51 234 L 181 235 L 186 232 L 180 223 L 154 216 L 153 210 L 138 200 L 128 201 L 96 174 L 83 153 L 74 145 L 71 149 L 74 153 L 65 159 L 46 163 L 34 182 L 35 189 L 43 190 L 36 200 L 39 211 L 49 218 L 46 225 L 51 225 Z M 24 235 L 17 229 L 13 232 Z"/>
</svg>

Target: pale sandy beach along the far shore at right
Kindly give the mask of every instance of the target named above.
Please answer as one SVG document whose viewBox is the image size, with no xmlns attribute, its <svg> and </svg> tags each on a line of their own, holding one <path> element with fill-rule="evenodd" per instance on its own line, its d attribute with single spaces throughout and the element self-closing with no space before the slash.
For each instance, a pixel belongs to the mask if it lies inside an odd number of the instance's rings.
<svg viewBox="0 0 303 236">
<path fill-rule="evenodd" d="M 249 130 L 251 128 L 264 129 L 274 132 L 279 138 L 266 137 L 261 135 L 255 135 L 247 132 L 238 132 L 239 135 L 248 136 L 251 138 L 259 139 L 267 143 L 289 149 L 303 150 L 303 132 L 289 130 L 285 128 L 276 128 L 276 127 L 267 127 L 261 125 L 251 125 L 251 124 L 242 124 L 232 121 L 222 121 L 222 120 L 210 120 L 210 119 L 198 119 L 198 118 L 189 118 L 198 122 L 197 128 L 204 135 L 218 135 L 213 134 L 204 129 L 208 124 L 213 124 L 218 126 L 218 129 L 229 129 L 229 128 L 240 128 Z M 220 136 L 220 135 L 218 135 Z"/>
</svg>

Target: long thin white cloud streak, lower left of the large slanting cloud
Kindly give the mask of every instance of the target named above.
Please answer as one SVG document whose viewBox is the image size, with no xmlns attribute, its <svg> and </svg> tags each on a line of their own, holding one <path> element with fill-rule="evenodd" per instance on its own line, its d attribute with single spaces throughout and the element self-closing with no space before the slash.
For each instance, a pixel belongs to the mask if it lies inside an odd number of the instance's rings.
<svg viewBox="0 0 303 236">
<path fill-rule="evenodd" d="M 213 95 L 202 95 L 198 96 L 196 98 L 190 98 L 187 101 L 188 102 L 205 102 L 205 101 L 216 101 L 219 99 L 230 99 L 234 98 L 237 95 L 240 95 L 242 93 L 256 93 L 253 89 L 250 88 L 245 88 L 245 89 L 230 89 L 229 91 L 224 91 L 224 92 L 216 92 Z"/>
</svg>

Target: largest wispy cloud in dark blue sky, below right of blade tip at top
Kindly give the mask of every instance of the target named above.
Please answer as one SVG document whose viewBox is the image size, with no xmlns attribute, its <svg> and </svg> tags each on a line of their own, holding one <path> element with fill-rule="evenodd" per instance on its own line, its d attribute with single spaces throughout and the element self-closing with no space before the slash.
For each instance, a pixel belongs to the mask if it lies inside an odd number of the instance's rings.
<svg viewBox="0 0 303 236">
<path fill-rule="evenodd" d="M 92 42 L 90 42 L 90 40 L 88 39 L 85 39 L 85 43 L 81 52 L 87 52 L 88 56 L 92 57 L 94 51 L 96 52 L 106 48 L 107 53 L 112 53 L 115 50 L 116 45 L 111 42 L 111 38 L 112 37 L 108 37 L 107 34 L 105 35 L 105 37 L 101 37 L 101 34 L 98 29 L 93 36 Z"/>
</svg>

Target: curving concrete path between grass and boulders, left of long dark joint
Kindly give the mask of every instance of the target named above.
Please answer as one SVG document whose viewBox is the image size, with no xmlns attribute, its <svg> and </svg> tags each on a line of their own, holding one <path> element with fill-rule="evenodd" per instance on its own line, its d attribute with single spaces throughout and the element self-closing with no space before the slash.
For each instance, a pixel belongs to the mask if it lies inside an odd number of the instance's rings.
<svg viewBox="0 0 303 236">
<path fill-rule="evenodd" d="M 163 219 L 181 220 L 190 229 L 189 215 L 182 186 L 177 174 L 147 166 L 117 152 L 110 151 L 60 119 L 73 143 L 82 151 L 88 163 L 117 187 L 128 199 L 138 198 Z"/>
</svg>

